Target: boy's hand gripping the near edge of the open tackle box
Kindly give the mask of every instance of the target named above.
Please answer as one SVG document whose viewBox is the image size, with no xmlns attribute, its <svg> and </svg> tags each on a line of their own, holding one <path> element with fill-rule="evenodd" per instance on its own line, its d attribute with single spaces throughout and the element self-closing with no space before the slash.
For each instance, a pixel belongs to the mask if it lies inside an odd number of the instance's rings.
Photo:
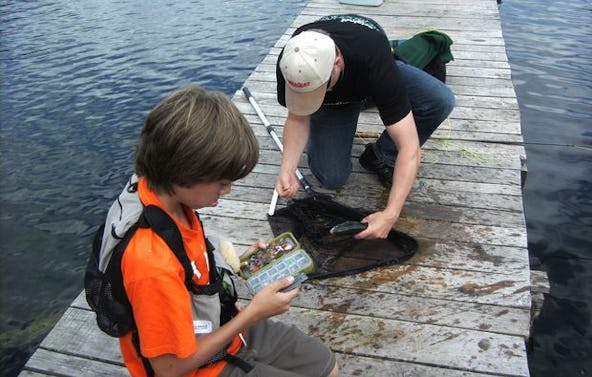
<svg viewBox="0 0 592 377">
<path fill-rule="evenodd" d="M 253 297 L 245 311 L 251 311 L 257 320 L 287 312 L 292 300 L 300 293 L 300 289 L 295 288 L 288 292 L 280 292 L 280 290 L 293 282 L 294 277 L 289 276 L 269 284 Z"/>
</svg>

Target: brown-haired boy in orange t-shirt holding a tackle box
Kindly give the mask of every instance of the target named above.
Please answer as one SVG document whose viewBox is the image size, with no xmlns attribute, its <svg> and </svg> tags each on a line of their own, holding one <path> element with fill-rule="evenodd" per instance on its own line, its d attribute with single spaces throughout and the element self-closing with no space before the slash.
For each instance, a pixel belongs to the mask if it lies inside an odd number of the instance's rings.
<svg viewBox="0 0 592 377">
<path fill-rule="evenodd" d="M 146 117 L 136 149 L 137 194 L 144 206 L 163 209 L 177 225 L 194 283 L 210 282 L 207 242 L 194 209 L 216 206 L 232 182 L 245 177 L 259 157 L 249 124 L 223 94 L 188 87 L 160 102 Z M 153 369 L 167 376 L 336 377 L 335 356 L 293 326 L 268 320 L 283 313 L 298 289 L 280 292 L 293 278 L 270 284 L 236 316 L 219 323 L 218 294 L 189 292 L 185 271 L 151 228 L 139 228 L 124 253 L 125 291 L 138 329 L 120 340 L 132 376 Z M 240 363 L 215 360 L 221 351 Z M 287 351 L 287 352 L 286 352 Z M 148 360 L 149 365 L 143 362 Z"/>
</svg>

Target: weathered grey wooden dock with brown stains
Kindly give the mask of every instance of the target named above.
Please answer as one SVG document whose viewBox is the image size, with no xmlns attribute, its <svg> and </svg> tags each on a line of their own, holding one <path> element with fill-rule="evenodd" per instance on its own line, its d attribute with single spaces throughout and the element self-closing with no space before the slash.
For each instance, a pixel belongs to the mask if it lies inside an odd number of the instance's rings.
<svg viewBox="0 0 592 377">
<path fill-rule="evenodd" d="M 447 83 L 457 104 L 424 145 L 418 180 L 396 224 L 419 240 L 417 255 L 403 265 L 305 284 L 282 319 L 328 343 L 341 376 L 528 376 L 525 151 L 496 1 L 386 0 L 379 7 L 309 1 L 245 82 L 280 135 L 287 113 L 275 99 L 277 55 L 296 27 L 339 13 L 372 17 L 392 39 L 428 29 L 447 33 L 455 57 Z M 219 207 L 201 212 L 206 229 L 225 231 L 244 250 L 272 237 L 266 212 L 280 154 L 242 91 L 233 100 L 259 137 L 260 162 Z M 382 129 L 375 110 L 360 117 L 359 130 Z M 368 141 L 356 140 L 354 172 L 335 195 L 374 208 L 384 205 L 384 189 L 357 161 Z M 304 161 L 301 171 L 315 186 Z M 98 330 L 82 295 L 21 373 L 42 375 L 128 375 L 117 340 Z"/>
</svg>

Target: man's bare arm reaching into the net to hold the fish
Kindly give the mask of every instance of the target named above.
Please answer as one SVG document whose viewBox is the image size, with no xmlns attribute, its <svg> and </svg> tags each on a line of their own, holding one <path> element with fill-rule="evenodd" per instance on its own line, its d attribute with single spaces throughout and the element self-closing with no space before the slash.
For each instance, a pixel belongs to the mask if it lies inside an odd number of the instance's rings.
<svg viewBox="0 0 592 377">
<path fill-rule="evenodd" d="M 362 220 L 368 223 L 368 228 L 358 233 L 356 238 L 386 238 L 399 219 L 403 204 L 417 177 L 421 149 L 413 114 L 409 112 L 403 119 L 387 126 L 386 129 L 399 152 L 395 161 L 393 185 L 386 208 Z"/>
</svg>

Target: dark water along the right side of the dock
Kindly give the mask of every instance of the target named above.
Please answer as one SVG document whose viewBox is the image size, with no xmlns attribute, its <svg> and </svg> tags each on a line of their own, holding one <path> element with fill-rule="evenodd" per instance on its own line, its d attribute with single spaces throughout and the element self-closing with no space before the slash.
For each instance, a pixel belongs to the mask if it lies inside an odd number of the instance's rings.
<svg viewBox="0 0 592 377">
<path fill-rule="evenodd" d="M 531 266 L 551 282 L 531 375 L 592 375 L 592 3 L 500 6 L 526 141 Z"/>
</svg>

